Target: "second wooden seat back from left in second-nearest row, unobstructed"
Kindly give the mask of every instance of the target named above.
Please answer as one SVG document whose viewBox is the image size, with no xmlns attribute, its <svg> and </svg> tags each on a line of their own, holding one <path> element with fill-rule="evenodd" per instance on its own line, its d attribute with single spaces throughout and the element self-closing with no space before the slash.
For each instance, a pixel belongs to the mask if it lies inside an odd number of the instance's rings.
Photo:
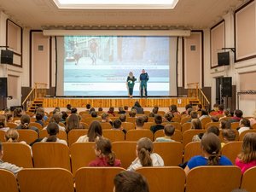
<svg viewBox="0 0 256 192">
<path fill-rule="evenodd" d="M 62 143 L 34 143 L 34 167 L 60 167 L 71 171 L 69 148 Z"/>
</svg>

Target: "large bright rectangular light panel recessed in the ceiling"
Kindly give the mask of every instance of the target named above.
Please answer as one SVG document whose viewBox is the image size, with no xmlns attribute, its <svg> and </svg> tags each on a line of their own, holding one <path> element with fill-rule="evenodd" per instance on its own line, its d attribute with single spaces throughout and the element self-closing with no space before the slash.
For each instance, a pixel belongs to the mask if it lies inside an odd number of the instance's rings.
<svg viewBox="0 0 256 192">
<path fill-rule="evenodd" d="M 59 9 L 174 9 L 178 0 L 53 0 Z"/>
</svg>

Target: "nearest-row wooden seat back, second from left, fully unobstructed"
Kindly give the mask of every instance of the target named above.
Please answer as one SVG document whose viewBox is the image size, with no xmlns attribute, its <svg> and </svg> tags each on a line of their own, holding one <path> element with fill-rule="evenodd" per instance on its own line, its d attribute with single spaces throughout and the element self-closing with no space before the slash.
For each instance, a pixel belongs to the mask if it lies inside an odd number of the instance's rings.
<svg viewBox="0 0 256 192">
<path fill-rule="evenodd" d="M 74 192 L 73 175 L 61 168 L 22 169 L 18 183 L 20 192 Z"/>
</svg>

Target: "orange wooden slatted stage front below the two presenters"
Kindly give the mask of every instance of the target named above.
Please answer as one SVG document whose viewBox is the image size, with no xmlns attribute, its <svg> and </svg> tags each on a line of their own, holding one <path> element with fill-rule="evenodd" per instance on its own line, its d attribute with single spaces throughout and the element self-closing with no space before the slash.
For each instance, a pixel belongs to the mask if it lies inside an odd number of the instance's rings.
<svg viewBox="0 0 256 192">
<path fill-rule="evenodd" d="M 71 104 L 73 108 L 85 108 L 86 104 L 90 103 L 92 108 L 119 108 L 132 107 L 134 102 L 140 102 L 143 108 L 160 108 L 169 107 L 172 104 L 177 105 L 177 108 L 184 108 L 191 101 L 195 101 L 194 97 L 44 97 L 42 98 L 44 108 L 66 108 L 67 104 Z"/>
</svg>

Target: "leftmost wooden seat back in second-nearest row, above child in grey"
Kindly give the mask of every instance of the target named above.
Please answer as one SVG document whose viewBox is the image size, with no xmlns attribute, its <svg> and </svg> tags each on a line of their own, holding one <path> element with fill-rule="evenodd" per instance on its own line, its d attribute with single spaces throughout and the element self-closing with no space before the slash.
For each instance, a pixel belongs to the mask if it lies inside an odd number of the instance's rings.
<svg viewBox="0 0 256 192">
<path fill-rule="evenodd" d="M 24 168 L 32 168 L 32 151 L 24 143 L 3 143 L 3 161 Z"/>
</svg>

